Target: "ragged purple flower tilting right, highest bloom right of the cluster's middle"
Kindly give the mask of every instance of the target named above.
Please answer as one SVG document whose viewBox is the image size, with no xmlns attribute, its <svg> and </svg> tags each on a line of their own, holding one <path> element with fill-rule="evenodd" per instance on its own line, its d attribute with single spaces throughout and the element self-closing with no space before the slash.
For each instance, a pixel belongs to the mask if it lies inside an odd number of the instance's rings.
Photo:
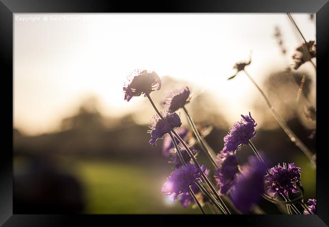
<svg viewBox="0 0 329 227">
<path fill-rule="evenodd" d="M 256 135 L 255 127 L 257 124 L 252 118 L 250 112 L 249 116 L 241 115 L 240 122 L 236 122 L 227 136 L 224 137 L 224 152 L 234 151 L 239 145 L 248 144 L 249 140 Z"/>
</svg>

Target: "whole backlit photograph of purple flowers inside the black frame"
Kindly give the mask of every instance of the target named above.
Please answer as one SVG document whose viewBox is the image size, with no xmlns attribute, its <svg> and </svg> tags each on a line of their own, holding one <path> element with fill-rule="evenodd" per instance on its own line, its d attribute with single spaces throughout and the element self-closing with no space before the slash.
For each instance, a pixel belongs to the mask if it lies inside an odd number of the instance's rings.
<svg viewBox="0 0 329 227">
<path fill-rule="evenodd" d="M 13 213 L 316 215 L 316 34 L 315 13 L 13 14 Z"/>
</svg>

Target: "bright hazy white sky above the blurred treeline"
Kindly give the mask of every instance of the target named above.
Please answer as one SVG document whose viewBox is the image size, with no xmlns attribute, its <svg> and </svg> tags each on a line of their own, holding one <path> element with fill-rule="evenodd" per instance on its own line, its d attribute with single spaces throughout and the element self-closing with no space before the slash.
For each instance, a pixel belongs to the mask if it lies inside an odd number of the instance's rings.
<svg viewBox="0 0 329 227">
<path fill-rule="evenodd" d="M 309 15 L 293 17 L 315 40 Z M 233 65 L 252 50 L 248 71 L 261 84 L 269 68 L 293 63 L 302 42 L 285 14 L 15 14 L 14 21 L 14 126 L 27 134 L 57 129 L 90 94 L 100 98 L 105 116 L 134 111 L 142 97 L 127 103 L 122 86 L 138 68 L 216 92 L 225 117 L 237 120 L 259 94 L 242 75 L 227 81 Z M 300 69 L 314 75 L 310 64 Z"/>
</svg>

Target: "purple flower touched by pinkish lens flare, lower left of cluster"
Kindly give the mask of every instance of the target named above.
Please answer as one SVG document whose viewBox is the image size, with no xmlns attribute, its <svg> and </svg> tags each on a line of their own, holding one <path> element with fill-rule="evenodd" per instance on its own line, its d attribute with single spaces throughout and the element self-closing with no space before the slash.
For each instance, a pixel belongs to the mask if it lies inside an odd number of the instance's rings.
<svg viewBox="0 0 329 227">
<path fill-rule="evenodd" d="M 204 165 L 200 169 L 196 164 L 187 163 L 171 173 L 161 191 L 176 200 L 180 193 L 189 192 L 189 186 L 197 182 L 204 172 Z"/>
</svg>

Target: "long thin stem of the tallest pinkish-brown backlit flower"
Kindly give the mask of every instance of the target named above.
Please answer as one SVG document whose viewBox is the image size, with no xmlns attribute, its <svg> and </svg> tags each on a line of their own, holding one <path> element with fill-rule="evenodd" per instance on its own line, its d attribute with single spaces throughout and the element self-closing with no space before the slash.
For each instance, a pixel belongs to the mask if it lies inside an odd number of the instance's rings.
<svg viewBox="0 0 329 227">
<path fill-rule="evenodd" d="M 184 142 L 184 140 L 175 132 L 175 130 L 171 127 L 171 125 L 166 121 L 165 118 L 163 118 L 163 116 L 161 115 L 160 111 L 156 108 L 151 96 L 149 93 L 145 93 L 147 98 L 149 99 L 151 105 L 153 106 L 154 110 L 156 111 L 157 115 L 160 117 L 160 119 L 167 125 L 167 127 L 170 129 L 170 131 L 175 135 L 175 137 L 179 140 L 179 142 L 183 145 L 183 147 L 185 148 L 185 150 L 187 151 L 187 153 L 190 155 L 190 157 L 192 158 L 192 160 L 194 161 L 194 163 L 198 166 L 198 168 L 201 170 L 201 167 L 199 165 L 199 163 L 197 162 L 197 160 L 195 159 L 194 155 L 192 154 L 190 148 L 186 145 L 186 143 Z M 215 197 L 218 199 L 218 201 L 220 201 L 221 203 L 224 204 L 224 207 L 226 207 L 225 203 L 223 202 L 223 200 L 221 199 L 221 197 L 218 195 L 216 189 L 214 188 L 214 186 L 211 184 L 211 182 L 208 180 L 207 176 L 205 176 L 205 174 L 201 171 L 202 173 L 202 178 L 203 180 L 207 183 L 207 185 L 209 186 L 209 188 L 212 190 L 212 192 L 214 193 Z M 227 209 L 227 207 L 226 207 Z M 230 211 L 227 209 L 228 213 L 230 213 Z"/>
</svg>

